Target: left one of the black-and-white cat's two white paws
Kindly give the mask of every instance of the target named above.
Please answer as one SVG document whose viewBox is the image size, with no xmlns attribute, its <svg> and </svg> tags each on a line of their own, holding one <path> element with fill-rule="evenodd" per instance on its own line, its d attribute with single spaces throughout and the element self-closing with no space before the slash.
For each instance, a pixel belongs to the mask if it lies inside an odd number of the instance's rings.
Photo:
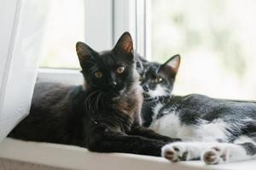
<svg viewBox="0 0 256 170">
<path fill-rule="evenodd" d="M 187 161 L 192 159 L 190 151 L 189 145 L 185 143 L 166 144 L 162 148 L 162 156 L 174 162 Z"/>
</svg>

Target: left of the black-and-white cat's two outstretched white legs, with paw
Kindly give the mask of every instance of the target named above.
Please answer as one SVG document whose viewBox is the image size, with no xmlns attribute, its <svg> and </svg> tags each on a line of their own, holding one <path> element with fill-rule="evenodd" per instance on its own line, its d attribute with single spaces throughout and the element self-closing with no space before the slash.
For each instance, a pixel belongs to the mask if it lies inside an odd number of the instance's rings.
<svg viewBox="0 0 256 170">
<path fill-rule="evenodd" d="M 162 148 L 162 156 L 170 161 L 200 160 L 203 150 L 213 146 L 210 142 L 175 142 Z"/>
</svg>

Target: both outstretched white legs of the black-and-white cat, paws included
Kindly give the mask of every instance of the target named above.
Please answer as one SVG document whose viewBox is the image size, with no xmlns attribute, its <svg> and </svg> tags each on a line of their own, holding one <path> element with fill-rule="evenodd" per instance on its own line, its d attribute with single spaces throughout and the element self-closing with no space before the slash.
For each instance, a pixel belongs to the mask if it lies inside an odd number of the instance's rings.
<svg viewBox="0 0 256 170">
<path fill-rule="evenodd" d="M 162 156 L 170 161 L 188 161 L 201 157 L 201 160 L 207 164 L 256 158 L 256 156 L 248 156 L 241 145 L 218 142 L 176 142 L 166 144 L 162 148 Z"/>
</svg>

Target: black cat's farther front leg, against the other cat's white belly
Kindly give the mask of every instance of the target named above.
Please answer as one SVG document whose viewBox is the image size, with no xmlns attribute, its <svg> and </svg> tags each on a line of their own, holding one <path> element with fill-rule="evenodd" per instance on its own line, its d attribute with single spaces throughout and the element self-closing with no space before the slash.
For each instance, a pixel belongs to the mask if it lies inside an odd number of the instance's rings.
<svg viewBox="0 0 256 170">
<path fill-rule="evenodd" d="M 139 125 L 137 125 L 136 127 L 132 127 L 131 131 L 128 132 L 128 134 L 143 136 L 148 139 L 157 139 L 162 142 L 165 142 L 166 144 L 181 141 L 181 139 L 172 139 L 168 136 L 164 136 L 159 133 L 155 133 L 153 130 L 148 129 L 146 127 L 139 126 Z"/>
</svg>

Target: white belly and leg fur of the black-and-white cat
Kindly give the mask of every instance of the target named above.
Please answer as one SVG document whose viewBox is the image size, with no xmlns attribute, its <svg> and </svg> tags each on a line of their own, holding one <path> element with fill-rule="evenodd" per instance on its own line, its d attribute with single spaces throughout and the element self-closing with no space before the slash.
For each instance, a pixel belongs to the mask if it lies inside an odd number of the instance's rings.
<svg viewBox="0 0 256 170">
<path fill-rule="evenodd" d="M 234 126 L 234 125 L 233 125 Z M 242 123 L 238 126 L 244 126 Z M 214 122 L 201 121 L 199 126 L 182 124 L 175 112 L 169 113 L 153 122 L 150 128 L 172 138 L 185 139 L 188 142 L 166 144 L 162 148 L 162 156 L 170 161 L 187 161 L 201 157 L 207 164 L 218 164 L 230 161 L 243 161 L 256 158 L 247 155 L 247 151 L 239 144 L 253 139 L 243 135 L 231 143 L 218 143 L 217 139 L 227 141 L 230 135 L 226 122 L 217 119 Z"/>
</svg>

